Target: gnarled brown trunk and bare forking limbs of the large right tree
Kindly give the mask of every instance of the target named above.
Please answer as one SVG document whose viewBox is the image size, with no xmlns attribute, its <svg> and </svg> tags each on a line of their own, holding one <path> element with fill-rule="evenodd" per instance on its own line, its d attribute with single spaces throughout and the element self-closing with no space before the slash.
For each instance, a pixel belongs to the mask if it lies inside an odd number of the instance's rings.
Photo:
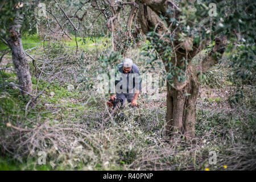
<svg viewBox="0 0 256 182">
<path fill-rule="evenodd" d="M 168 14 L 169 7 L 175 10 L 173 14 Z M 184 82 L 178 81 L 178 76 L 172 78 L 172 84 L 167 79 L 167 121 L 166 135 L 171 133 L 182 133 L 185 138 L 195 137 L 195 122 L 196 122 L 196 101 L 199 95 L 200 81 L 199 76 L 214 64 L 217 64 L 217 54 L 224 52 L 226 39 L 224 36 L 219 36 L 215 40 L 215 45 L 201 62 L 197 68 L 192 64 L 192 59 L 207 45 L 209 40 L 201 40 L 200 44 L 193 44 L 193 37 L 188 37 L 185 40 L 179 40 L 180 30 L 172 27 L 171 18 L 179 19 L 181 10 L 172 1 L 139 1 L 138 18 L 144 34 L 154 30 L 158 36 L 158 40 L 163 40 L 161 45 L 157 39 L 152 39 L 152 44 L 155 44 L 155 49 L 162 58 L 166 72 L 170 72 L 170 64 L 175 67 L 185 68 L 183 70 L 187 80 Z M 162 22 L 159 15 L 166 16 L 166 22 Z M 171 32 L 172 31 L 172 32 Z M 173 40 L 164 38 L 164 35 L 174 35 Z M 172 52 L 167 55 L 164 46 L 171 47 Z M 187 61 L 186 67 L 184 66 Z M 174 70 L 172 70 L 174 71 Z"/>
</svg>

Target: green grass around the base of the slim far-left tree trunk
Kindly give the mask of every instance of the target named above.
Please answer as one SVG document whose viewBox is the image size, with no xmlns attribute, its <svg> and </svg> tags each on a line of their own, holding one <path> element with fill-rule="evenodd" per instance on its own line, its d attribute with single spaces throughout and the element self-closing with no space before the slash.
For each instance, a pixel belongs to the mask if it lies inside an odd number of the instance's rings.
<svg viewBox="0 0 256 182">
<path fill-rule="evenodd" d="M 0 84 L 5 82 L 14 82 L 14 84 L 18 84 L 18 80 L 14 73 L 7 73 L 7 72 L 0 72 Z M 32 77 L 32 84 L 33 90 L 36 88 L 37 80 L 35 77 Z M 48 83 L 46 81 L 40 80 L 38 85 L 38 92 L 46 88 Z M 73 107 L 75 109 L 83 110 L 82 104 L 80 103 L 73 103 L 69 101 L 70 98 L 77 99 L 81 97 L 79 92 L 68 92 L 67 90 L 68 85 L 59 85 L 56 83 L 52 83 L 48 86 L 45 90 L 43 95 L 45 97 L 40 96 L 38 99 L 40 102 L 31 110 L 32 112 L 39 112 L 42 113 L 44 111 L 48 111 L 48 109 L 44 106 L 44 103 L 49 104 L 57 104 L 62 105 L 65 107 Z M 50 93 L 54 92 L 55 95 L 52 97 Z M 25 108 L 27 102 L 30 100 L 29 96 L 22 96 L 19 93 L 18 89 L 11 87 L 10 85 L 5 85 L 0 87 L 0 102 L 1 102 L 1 109 L 3 109 L 3 113 L 0 112 L 0 121 L 9 121 L 13 123 L 16 119 L 20 121 L 26 121 L 25 117 Z M 61 100 L 65 101 L 61 104 Z M 34 118 L 36 117 L 35 113 L 30 113 L 27 118 Z M 41 117 L 51 118 L 51 113 L 43 113 Z M 0 126 L 3 126 L 3 122 L 1 122 Z"/>
</svg>

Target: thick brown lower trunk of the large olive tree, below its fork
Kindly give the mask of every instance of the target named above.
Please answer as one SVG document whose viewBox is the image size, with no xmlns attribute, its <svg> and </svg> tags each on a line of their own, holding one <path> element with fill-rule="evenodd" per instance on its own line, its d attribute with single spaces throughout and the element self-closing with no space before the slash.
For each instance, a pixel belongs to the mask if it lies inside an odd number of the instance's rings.
<svg viewBox="0 0 256 182">
<path fill-rule="evenodd" d="M 167 82 L 167 125 L 166 136 L 179 133 L 185 138 L 195 137 L 196 101 L 200 82 L 191 75 L 182 90 L 174 89 Z"/>
</svg>

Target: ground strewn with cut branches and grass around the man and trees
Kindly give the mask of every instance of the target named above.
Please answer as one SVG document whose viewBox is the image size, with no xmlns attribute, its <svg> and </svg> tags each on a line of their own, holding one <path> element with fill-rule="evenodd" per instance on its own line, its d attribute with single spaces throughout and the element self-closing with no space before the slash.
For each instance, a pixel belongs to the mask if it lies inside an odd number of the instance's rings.
<svg viewBox="0 0 256 182">
<path fill-rule="evenodd" d="M 89 46 L 93 46 L 92 43 Z M 141 72 L 161 72 L 160 67 L 147 68 L 143 57 L 138 58 L 140 51 L 132 49 L 127 57 L 134 60 Z M 85 56 L 82 63 L 93 74 L 98 62 L 96 56 L 88 57 Z M 35 90 L 35 68 L 31 59 L 28 61 Z M 10 54 L 3 57 L 0 67 L 6 65 L 13 69 Z M 46 90 L 29 114 L 24 108 L 30 98 L 19 96 L 18 90 L 9 86 L 1 89 L 1 133 L 6 137 L 0 143 L 3 146 L 1 169 L 255 169 L 253 86 L 245 86 L 245 98 L 240 105 L 234 105 L 230 103 L 234 85 L 228 77 L 215 78 L 224 80 L 224 84 L 213 88 L 203 84 L 197 100 L 195 140 L 185 141 L 181 137 L 167 141 L 163 135 L 166 119 L 164 85 L 160 87 L 159 100 L 148 100 L 146 94 L 140 94 L 136 111 L 126 107 L 124 118 L 111 118 L 105 105 L 109 96 L 88 91 L 86 84 L 89 80 L 85 84 L 77 82 L 81 67 L 77 67 L 76 62 L 68 60 L 66 65 L 61 65 L 62 70 L 71 68 L 70 72 L 63 72 L 64 81 L 53 81 L 47 88 L 48 77 L 42 77 L 38 93 Z M 226 71 L 227 68 L 218 69 Z M 60 78 L 61 74 L 58 75 Z M 1 81 L 18 82 L 15 73 L 9 70 L 1 70 L 1 78 Z M 214 77 L 211 79 L 214 81 Z M 69 84 L 75 90 L 69 92 Z M 7 123 L 26 129 L 21 132 L 24 135 L 20 137 L 20 131 L 6 127 Z M 47 153 L 47 164 L 43 166 L 37 163 L 36 152 L 40 150 Z M 217 152 L 216 165 L 209 164 L 209 151 Z M 26 162 L 25 159 L 29 160 Z"/>
</svg>

